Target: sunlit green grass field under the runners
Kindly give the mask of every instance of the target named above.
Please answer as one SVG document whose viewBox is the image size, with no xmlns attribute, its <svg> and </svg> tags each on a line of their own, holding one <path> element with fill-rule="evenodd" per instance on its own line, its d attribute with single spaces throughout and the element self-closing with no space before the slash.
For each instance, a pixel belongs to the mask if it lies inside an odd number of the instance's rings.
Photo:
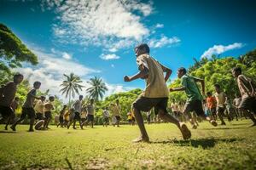
<svg viewBox="0 0 256 170">
<path fill-rule="evenodd" d="M 188 141 L 170 123 L 152 124 L 149 144 L 131 143 L 137 126 L 28 133 L 20 125 L 16 133 L 0 132 L 0 169 L 256 169 L 256 127 L 250 124 L 202 122 Z"/>
</svg>

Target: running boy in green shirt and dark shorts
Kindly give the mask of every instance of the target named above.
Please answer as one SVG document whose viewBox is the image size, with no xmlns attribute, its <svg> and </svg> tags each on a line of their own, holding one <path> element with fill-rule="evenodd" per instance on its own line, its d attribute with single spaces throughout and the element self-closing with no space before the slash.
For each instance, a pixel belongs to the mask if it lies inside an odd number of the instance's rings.
<svg viewBox="0 0 256 170">
<path fill-rule="evenodd" d="M 192 119 L 192 116 L 189 112 L 195 111 L 197 116 L 200 116 L 202 119 L 209 121 L 212 126 L 216 127 L 217 122 L 212 120 L 209 116 L 205 115 L 205 112 L 202 107 L 202 95 L 196 84 L 196 82 L 201 82 L 202 94 L 205 95 L 205 81 L 197 77 L 190 77 L 187 74 L 185 68 L 181 67 L 177 70 L 177 77 L 181 78 L 181 88 L 170 88 L 170 92 L 175 91 L 185 91 L 187 95 L 187 101 L 183 109 L 184 115 L 189 115 L 189 121 L 192 124 L 192 128 L 197 128 L 195 121 Z"/>
</svg>

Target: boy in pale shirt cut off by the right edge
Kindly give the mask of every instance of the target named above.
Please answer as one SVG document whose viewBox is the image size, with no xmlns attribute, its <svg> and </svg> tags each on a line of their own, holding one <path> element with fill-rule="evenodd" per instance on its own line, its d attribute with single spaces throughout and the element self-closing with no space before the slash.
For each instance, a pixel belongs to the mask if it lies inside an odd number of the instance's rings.
<svg viewBox="0 0 256 170">
<path fill-rule="evenodd" d="M 233 77 L 236 77 L 236 82 L 241 93 L 241 104 L 239 109 L 245 111 L 247 116 L 253 121 L 252 126 L 256 126 L 256 119 L 253 114 L 256 114 L 256 89 L 251 78 L 241 74 L 241 68 L 235 67 L 232 69 Z M 248 111 L 253 112 L 250 113 Z"/>
</svg>

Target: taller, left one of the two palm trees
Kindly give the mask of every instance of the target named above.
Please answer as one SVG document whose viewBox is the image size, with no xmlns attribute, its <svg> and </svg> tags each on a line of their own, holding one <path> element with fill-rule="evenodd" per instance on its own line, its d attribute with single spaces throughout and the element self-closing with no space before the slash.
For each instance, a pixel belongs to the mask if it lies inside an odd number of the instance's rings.
<svg viewBox="0 0 256 170">
<path fill-rule="evenodd" d="M 64 80 L 61 83 L 61 87 L 63 88 L 61 88 L 60 92 L 62 92 L 62 94 L 66 94 L 66 98 L 68 97 L 68 104 L 70 104 L 71 96 L 74 98 L 75 94 L 79 94 L 79 91 L 84 88 L 84 86 L 79 84 L 83 81 L 80 80 L 79 76 L 76 76 L 73 73 L 70 73 L 69 76 L 64 74 L 64 77 L 67 77 L 67 80 Z"/>
</svg>

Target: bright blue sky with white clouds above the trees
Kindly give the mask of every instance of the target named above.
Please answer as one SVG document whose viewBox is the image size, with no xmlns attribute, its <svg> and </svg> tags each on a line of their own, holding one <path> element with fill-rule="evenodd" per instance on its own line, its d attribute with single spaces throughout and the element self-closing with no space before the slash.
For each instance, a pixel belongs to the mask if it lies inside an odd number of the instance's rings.
<svg viewBox="0 0 256 170">
<path fill-rule="evenodd" d="M 0 22 L 38 54 L 39 65 L 19 71 L 43 82 L 43 90 L 58 94 L 62 74 L 74 72 L 84 86 L 90 77 L 102 77 L 112 94 L 144 87 L 142 80 L 123 82 L 137 72 L 133 48 L 140 42 L 174 71 L 171 79 L 194 57 L 237 57 L 252 50 L 255 8 L 253 0 L 2 0 Z"/>
</svg>

